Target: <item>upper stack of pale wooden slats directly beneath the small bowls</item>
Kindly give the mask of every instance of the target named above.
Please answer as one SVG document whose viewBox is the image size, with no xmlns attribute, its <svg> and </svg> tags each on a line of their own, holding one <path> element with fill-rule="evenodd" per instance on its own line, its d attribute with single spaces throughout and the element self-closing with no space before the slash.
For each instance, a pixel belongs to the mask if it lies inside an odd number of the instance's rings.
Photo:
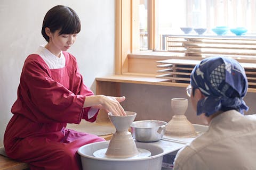
<svg viewBox="0 0 256 170">
<path fill-rule="evenodd" d="M 256 56 L 256 37 L 172 35 L 165 38 L 169 52 L 185 53 L 185 56 Z"/>
</svg>

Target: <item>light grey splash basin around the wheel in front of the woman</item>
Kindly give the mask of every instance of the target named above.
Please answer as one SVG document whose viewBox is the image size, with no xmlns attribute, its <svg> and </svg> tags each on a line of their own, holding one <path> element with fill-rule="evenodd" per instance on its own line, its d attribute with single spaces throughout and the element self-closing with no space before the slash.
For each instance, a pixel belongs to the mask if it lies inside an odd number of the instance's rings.
<svg viewBox="0 0 256 170">
<path fill-rule="evenodd" d="M 150 157 L 116 159 L 116 158 L 98 158 L 93 156 L 93 152 L 107 148 L 109 141 L 90 143 L 78 149 L 81 156 L 83 170 L 161 170 L 163 156 L 170 151 L 164 151 L 157 143 L 135 142 L 137 148 L 147 149 L 151 152 Z M 180 148 L 180 147 L 179 147 Z"/>
</svg>

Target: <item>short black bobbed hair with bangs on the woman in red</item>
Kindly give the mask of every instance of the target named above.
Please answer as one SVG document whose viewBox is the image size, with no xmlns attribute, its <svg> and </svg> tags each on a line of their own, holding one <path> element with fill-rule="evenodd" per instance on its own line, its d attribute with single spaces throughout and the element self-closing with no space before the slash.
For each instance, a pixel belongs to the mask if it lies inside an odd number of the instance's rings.
<svg viewBox="0 0 256 170">
<path fill-rule="evenodd" d="M 42 35 L 49 43 L 49 37 L 45 33 L 48 27 L 51 32 L 60 30 L 59 35 L 75 34 L 81 30 L 81 21 L 74 10 L 70 7 L 57 5 L 51 8 L 44 16 Z"/>
</svg>

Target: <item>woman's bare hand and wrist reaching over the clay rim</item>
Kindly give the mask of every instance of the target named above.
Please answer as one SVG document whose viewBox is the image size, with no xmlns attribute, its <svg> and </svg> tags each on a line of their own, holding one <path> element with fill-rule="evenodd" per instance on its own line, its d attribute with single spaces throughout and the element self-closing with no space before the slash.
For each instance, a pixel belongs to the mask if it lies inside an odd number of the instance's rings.
<svg viewBox="0 0 256 170">
<path fill-rule="evenodd" d="M 120 102 L 124 101 L 125 97 L 113 97 L 113 96 L 87 96 L 84 101 L 84 107 L 94 106 L 97 108 L 106 109 L 107 112 L 111 112 L 113 115 L 125 116 L 126 113 L 121 106 Z"/>
</svg>

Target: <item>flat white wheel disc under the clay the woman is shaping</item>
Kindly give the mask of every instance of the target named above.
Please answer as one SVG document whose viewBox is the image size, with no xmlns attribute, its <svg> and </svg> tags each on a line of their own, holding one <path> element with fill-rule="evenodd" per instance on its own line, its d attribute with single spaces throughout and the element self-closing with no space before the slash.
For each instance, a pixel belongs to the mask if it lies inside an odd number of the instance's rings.
<svg viewBox="0 0 256 170">
<path fill-rule="evenodd" d="M 151 152 L 149 150 L 138 148 L 138 151 L 139 151 L 138 155 L 127 157 L 127 158 L 115 158 L 115 157 L 110 158 L 105 155 L 107 149 L 108 148 L 99 149 L 93 153 L 93 156 L 97 158 L 108 158 L 108 159 L 134 159 L 134 158 L 146 158 L 151 156 Z"/>
</svg>

